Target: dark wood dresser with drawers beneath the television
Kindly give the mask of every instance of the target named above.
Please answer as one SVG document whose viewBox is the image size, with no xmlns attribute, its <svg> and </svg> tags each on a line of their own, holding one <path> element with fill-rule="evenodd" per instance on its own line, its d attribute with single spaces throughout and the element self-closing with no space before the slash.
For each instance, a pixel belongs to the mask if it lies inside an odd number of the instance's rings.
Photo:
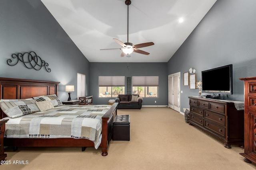
<svg viewBox="0 0 256 170">
<path fill-rule="evenodd" d="M 224 147 L 244 145 L 243 102 L 214 100 L 200 97 L 188 97 L 190 105 L 190 125 L 201 129 L 212 137 L 222 141 Z M 242 104 L 237 109 L 235 104 Z M 242 109 L 242 110 L 241 110 Z"/>
</svg>

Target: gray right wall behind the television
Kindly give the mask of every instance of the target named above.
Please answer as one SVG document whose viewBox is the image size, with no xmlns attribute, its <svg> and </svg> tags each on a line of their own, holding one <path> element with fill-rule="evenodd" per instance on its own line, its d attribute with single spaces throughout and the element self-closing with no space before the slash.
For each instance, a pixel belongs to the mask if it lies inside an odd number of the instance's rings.
<svg viewBox="0 0 256 170">
<path fill-rule="evenodd" d="M 244 101 L 244 84 L 239 78 L 256 76 L 255 9 L 254 0 L 217 0 L 168 61 L 168 74 L 188 72 L 192 67 L 199 81 L 201 71 L 233 64 L 233 95 L 228 98 Z M 213 81 L 218 82 L 217 75 Z M 198 89 L 182 85 L 181 90 L 182 110 L 189 107 L 188 96 L 197 96 Z"/>
</svg>

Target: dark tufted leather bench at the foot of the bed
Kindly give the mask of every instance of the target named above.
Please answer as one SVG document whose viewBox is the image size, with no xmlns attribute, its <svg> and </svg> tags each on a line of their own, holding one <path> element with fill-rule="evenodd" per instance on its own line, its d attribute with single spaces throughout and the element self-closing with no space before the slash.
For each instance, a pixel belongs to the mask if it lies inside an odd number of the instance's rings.
<svg viewBox="0 0 256 170">
<path fill-rule="evenodd" d="M 130 115 L 116 115 L 113 122 L 113 141 L 130 141 Z"/>
</svg>

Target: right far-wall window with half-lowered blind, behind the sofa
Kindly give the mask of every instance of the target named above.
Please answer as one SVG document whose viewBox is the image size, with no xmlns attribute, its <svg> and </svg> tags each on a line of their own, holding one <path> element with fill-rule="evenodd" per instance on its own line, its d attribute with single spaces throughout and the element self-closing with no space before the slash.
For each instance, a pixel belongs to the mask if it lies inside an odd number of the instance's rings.
<svg viewBox="0 0 256 170">
<path fill-rule="evenodd" d="M 158 76 L 133 76 L 132 93 L 140 97 L 158 97 Z"/>
</svg>

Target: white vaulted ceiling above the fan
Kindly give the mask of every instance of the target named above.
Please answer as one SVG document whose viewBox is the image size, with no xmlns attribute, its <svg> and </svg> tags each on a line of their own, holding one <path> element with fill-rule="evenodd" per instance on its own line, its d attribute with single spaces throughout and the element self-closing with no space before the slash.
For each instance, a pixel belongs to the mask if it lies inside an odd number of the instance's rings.
<svg viewBox="0 0 256 170">
<path fill-rule="evenodd" d="M 129 42 L 150 53 L 120 57 L 127 42 L 125 0 L 41 0 L 90 62 L 167 62 L 216 0 L 131 0 Z M 180 22 L 180 19 L 183 22 Z"/>
</svg>

